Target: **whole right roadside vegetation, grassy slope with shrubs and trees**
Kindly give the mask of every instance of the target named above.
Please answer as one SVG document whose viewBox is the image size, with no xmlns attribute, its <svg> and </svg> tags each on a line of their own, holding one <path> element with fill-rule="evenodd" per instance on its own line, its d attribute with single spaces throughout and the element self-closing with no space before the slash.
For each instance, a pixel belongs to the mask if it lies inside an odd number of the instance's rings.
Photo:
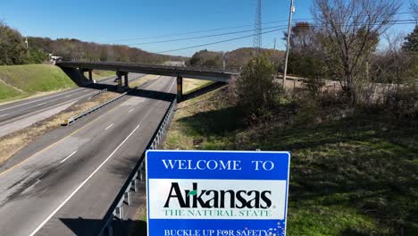
<svg viewBox="0 0 418 236">
<path fill-rule="evenodd" d="M 164 148 L 291 151 L 288 235 L 418 235 L 418 31 L 386 34 L 394 1 L 314 2 L 315 26 L 290 36 L 302 85 L 280 89 L 253 58 L 178 105 Z"/>
</svg>

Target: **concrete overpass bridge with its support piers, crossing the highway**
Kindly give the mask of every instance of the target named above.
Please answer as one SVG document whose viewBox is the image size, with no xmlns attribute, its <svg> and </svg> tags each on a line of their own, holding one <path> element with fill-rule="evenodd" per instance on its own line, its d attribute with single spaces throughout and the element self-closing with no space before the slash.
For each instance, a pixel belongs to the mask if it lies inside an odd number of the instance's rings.
<svg viewBox="0 0 418 236">
<path fill-rule="evenodd" d="M 227 83 L 238 76 L 238 70 L 207 69 L 195 67 L 133 64 L 133 63 L 102 63 L 102 62 L 59 62 L 56 65 L 62 68 L 78 69 L 80 72 L 88 72 L 88 79 L 93 80 L 93 70 L 113 71 L 118 77 L 118 89 L 129 87 L 128 73 L 145 73 L 163 76 L 177 77 L 177 99 L 181 100 L 183 94 L 183 78 L 197 80 L 212 80 Z M 122 86 L 122 77 L 124 85 Z"/>
</svg>

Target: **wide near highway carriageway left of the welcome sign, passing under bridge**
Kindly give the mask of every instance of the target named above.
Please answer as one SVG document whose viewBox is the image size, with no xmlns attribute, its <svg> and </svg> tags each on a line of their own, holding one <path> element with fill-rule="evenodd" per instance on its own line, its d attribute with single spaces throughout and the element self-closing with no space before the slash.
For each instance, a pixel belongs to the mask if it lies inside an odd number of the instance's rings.
<svg viewBox="0 0 418 236">
<path fill-rule="evenodd" d="M 174 99 L 175 84 L 171 77 L 152 80 L 140 87 L 146 91 L 52 131 L 59 134 L 46 136 L 53 140 L 38 139 L 36 151 L 0 173 L 0 234 L 95 235 Z"/>
</svg>

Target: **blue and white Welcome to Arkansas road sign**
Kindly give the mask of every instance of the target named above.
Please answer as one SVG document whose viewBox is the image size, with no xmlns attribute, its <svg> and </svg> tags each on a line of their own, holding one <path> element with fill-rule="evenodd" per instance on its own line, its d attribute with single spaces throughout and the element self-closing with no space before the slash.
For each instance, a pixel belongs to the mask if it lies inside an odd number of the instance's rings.
<svg viewBox="0 0 418 236">
<path fill-rule="evenodd" d="M 149 236 L 286 234 L 288 152 L 146 152 Z"/>
</svg>

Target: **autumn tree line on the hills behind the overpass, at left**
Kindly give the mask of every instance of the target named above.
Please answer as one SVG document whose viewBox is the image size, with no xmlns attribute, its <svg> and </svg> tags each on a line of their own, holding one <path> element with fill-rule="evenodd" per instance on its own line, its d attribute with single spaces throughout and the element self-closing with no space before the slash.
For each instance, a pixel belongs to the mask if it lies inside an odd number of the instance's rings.
<svg viewBox="0 0 418 236">
<path fill-rule="evenodd" d="M 158 55 L 136 47 L 121 45 L 102 45 L 83 42 L 74 38 L 39 38 L 21 36 L 0 21 L 0 65 L 43 63 L 48 54 L 62 56 L 63 60 L 164 63 L 166 61 L 185 61 L 186 58 L 172 55 Z"/>
</svg>

